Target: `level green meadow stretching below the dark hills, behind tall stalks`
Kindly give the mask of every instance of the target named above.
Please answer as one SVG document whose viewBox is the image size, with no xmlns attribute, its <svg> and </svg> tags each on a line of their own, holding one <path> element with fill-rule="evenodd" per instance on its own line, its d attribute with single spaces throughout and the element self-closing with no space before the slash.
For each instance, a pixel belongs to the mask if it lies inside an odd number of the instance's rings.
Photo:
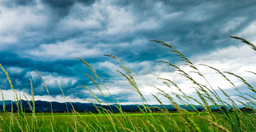
<svg viewBox="0 0 256 132">
<path fill-rule="evenodd" d="M 206 115 L 204 112 L 199 113 L 201 116 Z M 4 117 L 4 113 L 0 114 L 2 117 Z M 35 131 L 42 131 L 42 132 L 50 132 L 52 131 L 50 120 L 52 119 L 51 113 L 36 113 L 37 118 L 37 124 L 38 129 Z M 173 118 L 175 119 L 177 125 L 179 128 L 175 128 L 173 125 L 173 122 L 165 117 L 165 114 L 161 113 L 153 113 L 145 115 L 143 113 L 129 113 L 125 114 L 125 117 L 122 117 L 122 114 L 114 114 L 114 115 L 101 115 L 101 114 L 85 114 L 85 113 L 77 113 L 75 115 L 73 114 L 67 114 L 67 113 L 54 113 L 54 122 L 53 123 L 53 129 L 55 132 L 73 132 L 73 131 L 120 131 L 120 128 L 130 128 L 136 129 L 137 131 L 167 131 L 167 132 L 176 132 L 176 131 L 190 131 L 186 124 L 184 123 L 184 119 L 180 117 L 178 113 L 171 113 Z M 201 129 L 202 132 L 210 132 L 214 129 L 212 128 L 212 125 L 208 122 L 205 122 L 201 118 L 198 117 L 198 114 L 195 112 L 187 113 L 189 117 L 195 121 L 198 125 L 198 128 Z M 247 116 L 247 114 L 245 114 Z M 23 117 L 21 115 L 18 115 L 17 113 L 14 113 L 14 116 L 19 120 L 20 125 L 22 128 L 26 128 L 26 123 L 23 120 Z M 28 119 L 27 122 L 31 122 L 32 114 L 26 114 L 26 118 Z M 226 127 L 231 127 L 225 119 L 223 119 L 221 116 L 223 115 L 215 115 L 218 118 L 218 123 L 225 125 Z M 232 115 L 235 117 L 235 114 Z M 10 120 L 10 114 L 6 115 L 6 120 Z M 156 119 L 156 122 L 154 122 L 154 119 Z M 20 128 L 18 128 L 18 125 L 15 123 L 10 128 L 8 128 L 6 125 L 3 125 L 3 131 L 11 131 L 18 132 L 20 131 Z M 147 122 L 150 121 L 150 122 Z M 115 122 L 112 124 L 112 122 Z M 118 123 L 117 123 L 118 122 Z M 30 124 L 29 123 L 29 124 Z M 153 125 L 154 124 L 154 125 Z M 253 124 L 256 124 L 255 121 L 253 121 Z M 32 124 L 30 124 L 32 125 Z M 34 122 L 33 125 L 36 125 Z M 151 126 L 153 125 L 153 126 Z M 4 128 L 5 126 L 5 128 Z M 158 126 L 158 127 L 157 127 Z M 30 126 L 28 126 L 30 127 Z M 245 126 L 244 126 L 245 127 Z M 248 127 L 248 126 L 247 126 Z M 164 129 L 163 129 L 164 128 Z M 256 129 L 254 129 L 256 131 Z"/>
</svg>

